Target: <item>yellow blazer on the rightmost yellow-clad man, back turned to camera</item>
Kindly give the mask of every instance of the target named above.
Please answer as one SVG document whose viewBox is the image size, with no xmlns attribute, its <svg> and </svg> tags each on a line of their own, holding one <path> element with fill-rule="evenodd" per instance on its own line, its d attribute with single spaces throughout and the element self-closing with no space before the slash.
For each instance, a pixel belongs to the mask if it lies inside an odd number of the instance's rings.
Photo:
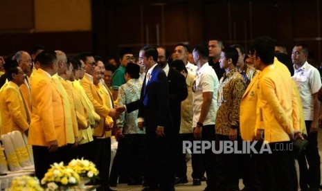
<svg viewBox="0 0 322 191">
<path fill-rule="evenodd" d="M 256 128 L 265 129 L 265 140 L 269 143 L 290 140 L 288 134 L 294 133 L 292 105 L 296 98 L 292 78 L 270 65 L 260 73 L 258 84 Z"/>
</svg>

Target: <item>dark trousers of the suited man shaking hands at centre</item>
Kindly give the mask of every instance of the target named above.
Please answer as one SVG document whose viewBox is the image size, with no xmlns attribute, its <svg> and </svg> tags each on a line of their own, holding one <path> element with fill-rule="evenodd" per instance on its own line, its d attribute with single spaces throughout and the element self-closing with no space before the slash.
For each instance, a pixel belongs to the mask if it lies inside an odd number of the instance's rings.
<svg viewBox="0 0 322 191">
<path fill-rule="evenodd" d="M 147 182 L 150 189 L 172 190 L 175 179 L 172 167 L 172 152 L 174 137 L 170 133 L 166 136 L 157 137 L 156 133 L 146 132 L 147 140 Z"/>
</svg>

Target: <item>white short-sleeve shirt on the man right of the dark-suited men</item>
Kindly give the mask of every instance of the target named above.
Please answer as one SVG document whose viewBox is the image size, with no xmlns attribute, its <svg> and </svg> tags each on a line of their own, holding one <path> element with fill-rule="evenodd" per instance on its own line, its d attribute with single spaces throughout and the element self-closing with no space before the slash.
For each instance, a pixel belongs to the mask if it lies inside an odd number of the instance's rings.
<svg viewBox="0 0 322 191">
<path fill-rule="evenodd" d="M 219 81 L 213 68 L 208 62 L 197 70 L 195 82 L 193 84 L 193 127 L 197 126 L 197 122 L 202 110 L 202 102 L 204 100 L 203 92 L 213 92 L 213 100 L 209 112 L 204 120 L 204 125 L 215 125 L 217 113 L 217 91 Z"/>
</svg>

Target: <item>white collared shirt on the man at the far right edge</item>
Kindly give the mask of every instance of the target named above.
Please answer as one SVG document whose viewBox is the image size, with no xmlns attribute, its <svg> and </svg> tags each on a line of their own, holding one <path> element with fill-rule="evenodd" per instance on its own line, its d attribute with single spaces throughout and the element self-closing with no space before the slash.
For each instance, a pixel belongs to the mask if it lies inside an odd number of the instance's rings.
<svg viewBox="0 0 322 191">
<path fill-rule="evenodd" d="M 307 63 L 307 61 L 296 69 L 295 64 L 294 75 L 292 76 L 303 104 L 304 120 L 313 120 L 314 115 L 314 98 L 313 94 L 321 88 L 321 76 L 319 71 Z"/>
</svg>

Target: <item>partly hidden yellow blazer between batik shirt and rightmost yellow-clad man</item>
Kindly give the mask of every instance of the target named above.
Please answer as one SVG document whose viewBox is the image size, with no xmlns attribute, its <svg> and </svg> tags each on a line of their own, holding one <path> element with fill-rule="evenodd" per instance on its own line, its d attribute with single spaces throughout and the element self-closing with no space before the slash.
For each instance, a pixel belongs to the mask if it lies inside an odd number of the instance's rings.
<svg viewBox="0 0 322 191">
<path fill-rule="evenodd" d="M 253 140 L 256 125 L 259 76 L 260 71 L 253 77 L 240 100 L 240 135 L 242 140 Z"/>
</svg>

